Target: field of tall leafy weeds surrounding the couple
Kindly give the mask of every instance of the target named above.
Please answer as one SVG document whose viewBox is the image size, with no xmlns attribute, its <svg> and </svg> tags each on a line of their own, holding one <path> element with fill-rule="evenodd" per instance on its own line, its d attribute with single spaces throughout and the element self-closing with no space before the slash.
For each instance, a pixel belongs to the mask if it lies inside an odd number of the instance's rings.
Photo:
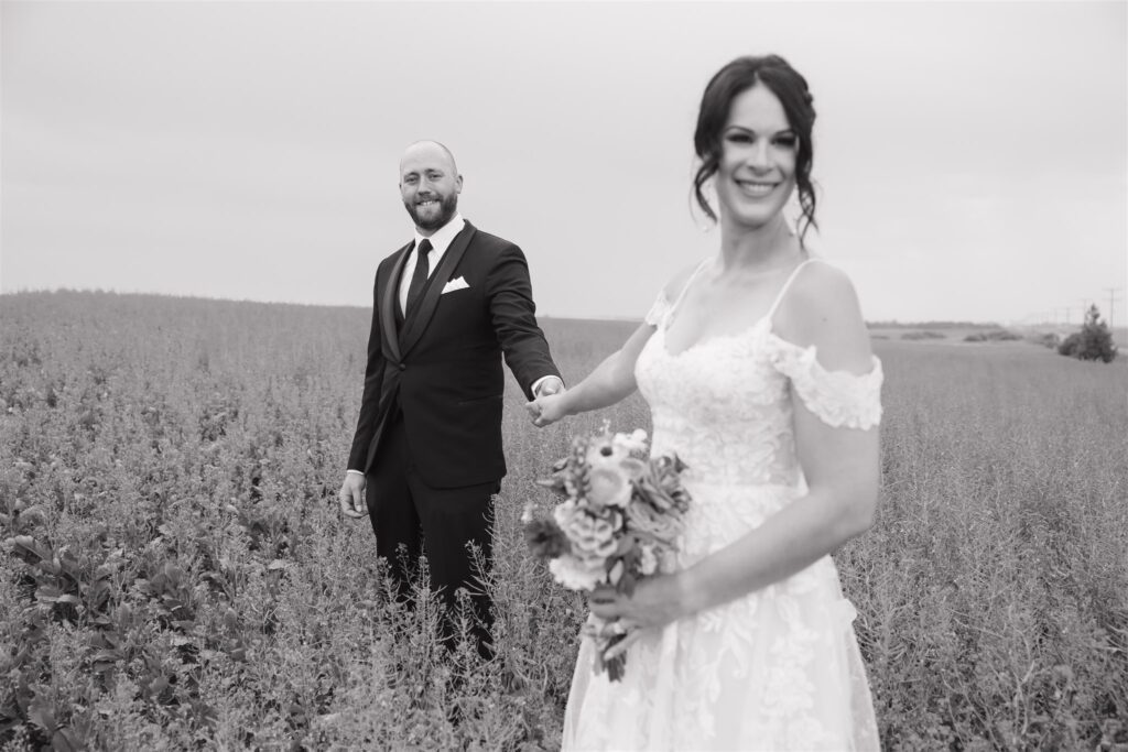
<svg viewBox="0 0 1128 752">
<path fill-rule="evenodd" d="M 537 432 L 510 384 L 482 664 L 336 511 L 367 311 L 24 293 L 0 322 L 0 747 L 558 746 L 583 601 L 518 517 L 573 433 L 650 427 L 637 396 Z M 575 381 L 633 325 L 544 327 Z M 1122 359 L 875 348 L 882 498 L 836 560 L 887 747 L 1128 749 Z"/>
</svg>

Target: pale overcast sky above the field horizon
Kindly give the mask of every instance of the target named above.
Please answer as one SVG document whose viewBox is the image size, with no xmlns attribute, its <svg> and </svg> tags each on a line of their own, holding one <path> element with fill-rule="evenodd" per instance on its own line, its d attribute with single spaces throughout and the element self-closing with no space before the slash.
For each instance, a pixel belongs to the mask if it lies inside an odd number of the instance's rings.
<svg viewBox="0 0 1128 752">
<path fill-rule="evenodd" d="M 371 306 L 426 138 L 540 313 L 640 318 L 719 244 L 689 204 L 705 83 L 766 52 L 811 86 L 812 245 L 866 318 L 1077 321 L 1128 277 L 1122 1 L 0 9 L 2 292 Z"/>
</svg>

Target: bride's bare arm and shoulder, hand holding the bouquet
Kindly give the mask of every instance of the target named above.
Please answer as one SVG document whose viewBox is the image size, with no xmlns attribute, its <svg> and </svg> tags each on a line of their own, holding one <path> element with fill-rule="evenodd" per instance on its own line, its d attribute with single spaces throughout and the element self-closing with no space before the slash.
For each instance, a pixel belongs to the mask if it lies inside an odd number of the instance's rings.
<svg viewBox="0 0 1128 752">
<path fill-rule="evenodd" d="M 795 285 L 777 313 L 777 333 L 802 346 L 816 345 L 828 371 L 869 372 L 869 334 L 849 281 L 822 264 L 808 272 L 810 278 Z M 792 401 L 809 493 L 688 569 L 644 580 L 632 599 L 600 591 L 592 598 L 594 613 L 663 625 L 779 582 L 872 525 L 880 480 L 876 426 L 832 427 L 808 409 L 795 389 Z"/>
</svg>

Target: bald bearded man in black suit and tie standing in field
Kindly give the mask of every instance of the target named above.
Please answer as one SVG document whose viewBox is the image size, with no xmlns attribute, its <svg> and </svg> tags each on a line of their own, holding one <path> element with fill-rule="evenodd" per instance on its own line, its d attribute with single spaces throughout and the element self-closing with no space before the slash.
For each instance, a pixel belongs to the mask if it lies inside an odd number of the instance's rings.
<svg viewBox="0 0 1128 752">
<path fill-rule="evenodd" d="M 490 625 L 468 545 L 490 563 L 493 497 L 505 475 L 502 355 L 526 397 L 564 384 L 537 326 L 525 255 L 461 218 L 461 189 L 442 144 L 404 152 L 399 192 L 415 238 L 376 272 L 364 392 L 338 498 L 346 516 L 371 520 L 400 596 L 425 552 L 431 586 L 448 605 L 465 587 Z M 444 630 L 452 634 L 449 622 Z M 475 635 L 487 654 L 488 632 Z"/>
</svg>

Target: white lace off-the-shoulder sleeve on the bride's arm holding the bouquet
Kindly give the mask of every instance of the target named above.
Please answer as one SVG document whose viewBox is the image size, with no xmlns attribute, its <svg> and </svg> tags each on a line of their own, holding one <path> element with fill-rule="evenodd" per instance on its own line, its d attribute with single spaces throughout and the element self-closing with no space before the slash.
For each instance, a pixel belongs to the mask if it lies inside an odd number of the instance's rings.
<svg viewBox="0 0 1128 752">
<path fill-rule="evenodd" d="M 791 379 L 792 388 L 807 409 L 823 423 L 848 428 L 872 428 L 881 423 L 881 361 L 873 356 L 873 368 L 861 375 L 848 371 L 828 371 L 816 359 L 814 346 L 799 347 L 777 337 L 772 362 Z"/>
</svg>

